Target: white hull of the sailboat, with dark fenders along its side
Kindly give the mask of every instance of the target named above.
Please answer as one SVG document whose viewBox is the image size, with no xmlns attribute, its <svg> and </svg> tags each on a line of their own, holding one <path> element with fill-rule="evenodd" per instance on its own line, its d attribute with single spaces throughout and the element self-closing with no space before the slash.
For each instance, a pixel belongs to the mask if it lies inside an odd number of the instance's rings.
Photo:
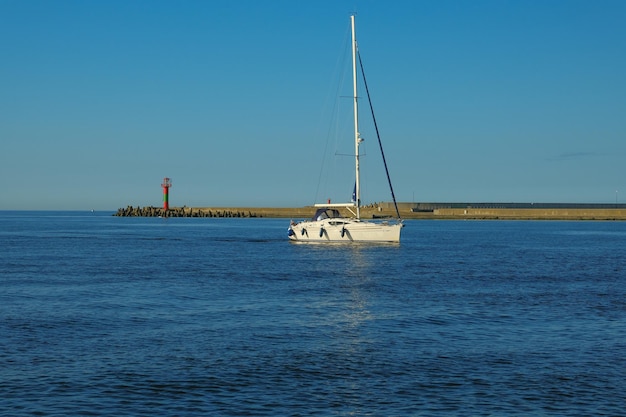
<svg viewBox="0 0 626 417">
<path fill-rule="evenodd" d="M 331 218 L 292 222 L 289 239 L 297 242 L 400 242 L 402 223 Z"/>
</svg>

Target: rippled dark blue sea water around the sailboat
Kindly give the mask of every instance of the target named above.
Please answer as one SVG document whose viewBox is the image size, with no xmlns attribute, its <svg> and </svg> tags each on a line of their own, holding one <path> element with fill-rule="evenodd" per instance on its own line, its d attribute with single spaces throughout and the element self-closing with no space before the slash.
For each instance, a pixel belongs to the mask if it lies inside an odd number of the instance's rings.
<svg viewBox="0 0 626 417">
<path fill-rule="evenodd" d="M 623 415 L 626 223 L 0 212 L 0 415 Z"/>
</svg>

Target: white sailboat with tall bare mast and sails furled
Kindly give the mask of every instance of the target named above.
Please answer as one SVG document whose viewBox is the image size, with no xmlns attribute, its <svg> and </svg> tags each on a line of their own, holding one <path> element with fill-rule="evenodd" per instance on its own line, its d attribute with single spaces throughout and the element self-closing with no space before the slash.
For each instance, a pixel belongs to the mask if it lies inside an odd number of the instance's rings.
<svg viewBox="0 0 626 417">
<path fill-rule="evenodd" d="M 389 171 L 383 153 L 383 163 L 387 172 L 387 180 L 396 208 L 397 221 L 370 221 L 361 219 L 361 184 L 359 172 L 359 146 L 363 139 L 359 134 L 359 107 L 357 95 L 357 57 L 358 49 L 356 42 L 355 17 L 350 16 L 352 30 L 352 85 L 353 85 L 353 105 L 354 105 L 354 148 L 355 148 L 355 187 L 352 201 L 350 203 L 315 204 L 317 208 L 314 216 L 310 220 L 300 222 L 291 221 L 288 228 L 288 236 L 291 241 L 296 242 L 400 242 L 400 231 L 404 226 L 400 219 L 400 212 L 393 193 Z M 360 58 L 359 58 L 360 62 Z M 362 65 L 361 65 L 362 70 Z M 363 77 L 365 81 L 365 77 Z M 367 91 L 367 83 L 365 83 Z M 369 98 L 369 93 L 368 93 Z M 371 107 L 371 101 L 370 101 Z M 372 112 L 373 115 L 373 112 Z M 374 119 L 374 125 L 376 122 Z M 376 127 L 378 133 L 378 128 Z M 380 138 L 379 138 L 380 144 Z M 382 145 L 380 146 L 382 152 Z M 339 209 L 350 211 L 352 216 L 341 215 Z"/>
</svg>

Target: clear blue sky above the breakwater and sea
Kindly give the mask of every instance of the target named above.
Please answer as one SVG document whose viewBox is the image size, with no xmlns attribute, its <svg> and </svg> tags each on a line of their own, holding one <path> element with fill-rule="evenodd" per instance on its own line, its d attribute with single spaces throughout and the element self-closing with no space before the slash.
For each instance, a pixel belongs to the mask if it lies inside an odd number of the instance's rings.
<svg viewBox="0 0 626 417">
<path fill-rule="evenodd" d="M 0 209 L 347 201 L 352 12 L 400 201 L 626 201 L 625 1 L 0 0 Z"/>
</svg>

